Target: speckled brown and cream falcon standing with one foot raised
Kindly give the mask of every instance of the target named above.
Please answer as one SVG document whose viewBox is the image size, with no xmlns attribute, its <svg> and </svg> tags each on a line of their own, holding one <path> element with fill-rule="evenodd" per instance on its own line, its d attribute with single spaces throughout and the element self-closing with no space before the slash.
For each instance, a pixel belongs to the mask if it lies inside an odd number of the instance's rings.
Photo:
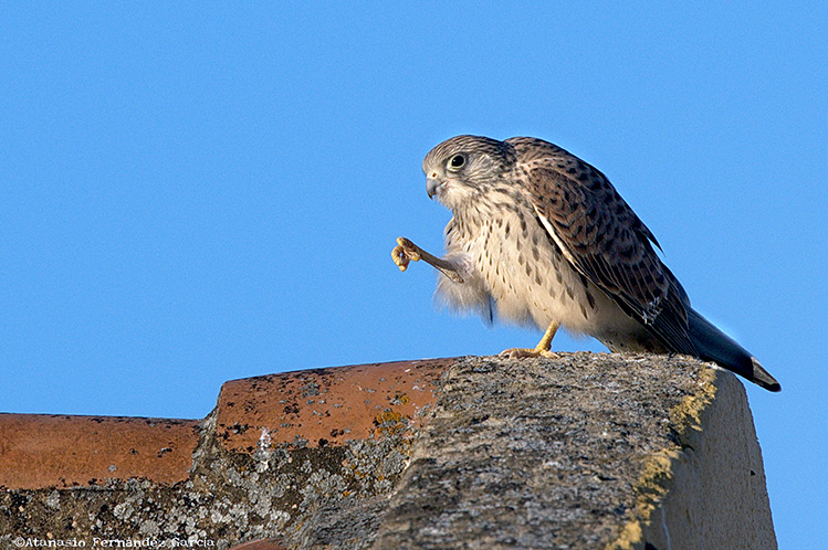
<svg viewBox="0 0 828 550">
<path fill-rule="evenodd" d="M 422 170 L 429 198 L 453 214 L 446 254 L 399 237 L 394 262 L 432 265 L 436 295 L 458 310 L 544 330 L 535 348 L 503 355 L 556 357 L 563 328 L 611 352 L 686 355 L 782 390 L 691 307 L 656 236 L 595 167 L 538 138 L 463 135 L 431 149 Z"/>
</svg>

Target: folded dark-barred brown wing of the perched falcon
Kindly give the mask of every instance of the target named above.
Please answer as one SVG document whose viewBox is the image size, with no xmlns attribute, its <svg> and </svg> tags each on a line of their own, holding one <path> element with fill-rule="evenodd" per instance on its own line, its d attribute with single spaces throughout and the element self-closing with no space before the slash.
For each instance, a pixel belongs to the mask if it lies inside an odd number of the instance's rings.
<svg viewBox="0 0 828 550">
<path fill-rule="evenodd" d="M 607 178 L 568 154 L 532 165 L 525 173 L 533 205 L 566 258 L 669 350 L 698 355 L 684 289 L 653 250 L 650 230 Z"/>
</svg>

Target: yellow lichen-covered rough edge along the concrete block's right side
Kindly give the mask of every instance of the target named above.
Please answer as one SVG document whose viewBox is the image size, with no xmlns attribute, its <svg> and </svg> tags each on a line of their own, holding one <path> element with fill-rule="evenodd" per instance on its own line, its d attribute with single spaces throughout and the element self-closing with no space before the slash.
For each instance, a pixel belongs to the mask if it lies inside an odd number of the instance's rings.
<svg viewBox="0 0 828 550">
<path fill-rule="evenodd" d="M 702 413 L 716 399 L 720 379 L 716 368 L 703 369 L 699 392 L 688 395 L 669 412 L 670 424 L 679 434 L 680 441 L 686 441 L 701 431 Z M 681 449 L 675 446 L 661 449 L 650 456 L 644 470 L 635 486 L 635 518 L 629 520 L 618 538 L 607 544 L 607 550 L 642 550 L 646 547 L 644 530 L 653 521 L 652 515 L 670 493 L 673 478 L 680 467 Z"/>
</svg>

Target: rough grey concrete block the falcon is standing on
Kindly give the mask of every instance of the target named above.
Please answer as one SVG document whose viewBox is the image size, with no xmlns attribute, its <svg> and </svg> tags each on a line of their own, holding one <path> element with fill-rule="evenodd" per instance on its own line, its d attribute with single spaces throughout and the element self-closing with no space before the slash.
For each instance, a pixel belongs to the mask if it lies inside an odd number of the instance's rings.
<svg viewBox="0 0 828 550">
<path fill-rule="evenodd" d="M 776 548 L 744 389 L 665 356 L 460 361 L 371 548 Z"/>
</svg>

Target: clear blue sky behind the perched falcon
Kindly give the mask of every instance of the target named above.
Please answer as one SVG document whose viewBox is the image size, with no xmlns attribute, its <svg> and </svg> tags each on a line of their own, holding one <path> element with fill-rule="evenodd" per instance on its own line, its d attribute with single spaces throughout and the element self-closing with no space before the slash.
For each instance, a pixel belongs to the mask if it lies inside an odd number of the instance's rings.
<svg viewBox="0 0 828 550">
<path fill-rule="evenodd" d="M 229 379 L 533 346 L 390 250 L 441 251 L 431 147 L 536 136 L 780 380 L 747 388 L 777 537 L 828 539 L 824 6 L 281 6 L 0 8 L 0 411 L 202 417 Z"/>
</svg>

